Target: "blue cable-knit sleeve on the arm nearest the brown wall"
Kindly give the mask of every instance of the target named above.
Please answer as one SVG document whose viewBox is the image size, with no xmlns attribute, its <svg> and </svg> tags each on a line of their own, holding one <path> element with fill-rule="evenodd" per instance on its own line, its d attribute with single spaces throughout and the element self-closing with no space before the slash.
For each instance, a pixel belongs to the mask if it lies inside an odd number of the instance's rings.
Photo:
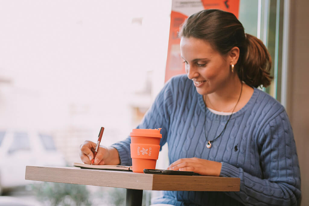
<svg viewBox="0 0 309 206">
<path fill-rule="evenodd" d="M 293 131 L 286 112 L 269 120 L 259 136 L 263 179 L 222 162 L 220 176 L 240 178 L 240 191 L 226 194 L 244 205 L 299 205 L 300 171 Z"/>
</svg>

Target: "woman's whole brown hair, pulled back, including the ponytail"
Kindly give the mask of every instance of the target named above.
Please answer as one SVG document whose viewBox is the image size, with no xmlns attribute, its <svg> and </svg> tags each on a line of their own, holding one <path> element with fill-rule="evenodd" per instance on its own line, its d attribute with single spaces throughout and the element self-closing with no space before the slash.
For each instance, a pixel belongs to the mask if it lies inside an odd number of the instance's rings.
<svg viewBox="0 0 309 206">
<path fill-rule="evenodd" d="M 254 87 L 270 85 L 271 56 L 261 40 L 244 33 L 234 14 L 217 9 L 199 11 L 183 23 L 179 36 L 206 40 L 222 55 L 239 48 L 235 71 L 241 81 Z"/>
</svg>

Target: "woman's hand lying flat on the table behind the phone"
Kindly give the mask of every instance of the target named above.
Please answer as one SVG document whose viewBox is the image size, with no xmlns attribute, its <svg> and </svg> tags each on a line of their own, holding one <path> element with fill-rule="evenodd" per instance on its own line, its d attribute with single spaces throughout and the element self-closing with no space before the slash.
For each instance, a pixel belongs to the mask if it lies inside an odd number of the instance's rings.
<svg viewBox="0 0 309 206">
<path fill-rule="evenodd" d="M 167 167 L 167 170 L 193 171 L 201 175 L 219 176 L 221 162 L 214 162 L 200 158 L 182 158 Z"/>
</svg>

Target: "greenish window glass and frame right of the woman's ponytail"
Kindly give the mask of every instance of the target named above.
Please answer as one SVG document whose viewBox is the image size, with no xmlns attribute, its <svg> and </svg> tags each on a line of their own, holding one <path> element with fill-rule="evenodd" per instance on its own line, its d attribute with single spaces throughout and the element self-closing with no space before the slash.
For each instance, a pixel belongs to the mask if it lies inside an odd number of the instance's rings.
<svg viewBox="0 0 309 206">
<path fill-rule="evenodd" d="M 281 87 L 286 84 L 286 80 L 281 79 L 282 46 L 286 44 L 283 41 L 283 10 L 284 3 L 280 0 L 240 1 L 239 5 L 239 20 L 245 32 L 262 40 L 272 57 L 270 75 L 274 79 L 263 90 L 278 101 L 282 101 Z"/>
</svg>

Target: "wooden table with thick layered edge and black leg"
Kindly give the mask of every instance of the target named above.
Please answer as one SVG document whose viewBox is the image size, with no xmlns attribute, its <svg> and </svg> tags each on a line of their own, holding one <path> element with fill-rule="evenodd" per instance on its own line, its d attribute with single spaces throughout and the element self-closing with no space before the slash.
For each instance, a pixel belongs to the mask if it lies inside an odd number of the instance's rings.
<svg viewBox="0 0 309 206">
<path fill-rule="evenodd" d="M 142 205 L 143 190 L 239 191 L 240 188 L 239 178 L 144 174 L 77 167 L 26 166 L 25 179 L 126 188 L 126 206 Z"/>
</svg>

